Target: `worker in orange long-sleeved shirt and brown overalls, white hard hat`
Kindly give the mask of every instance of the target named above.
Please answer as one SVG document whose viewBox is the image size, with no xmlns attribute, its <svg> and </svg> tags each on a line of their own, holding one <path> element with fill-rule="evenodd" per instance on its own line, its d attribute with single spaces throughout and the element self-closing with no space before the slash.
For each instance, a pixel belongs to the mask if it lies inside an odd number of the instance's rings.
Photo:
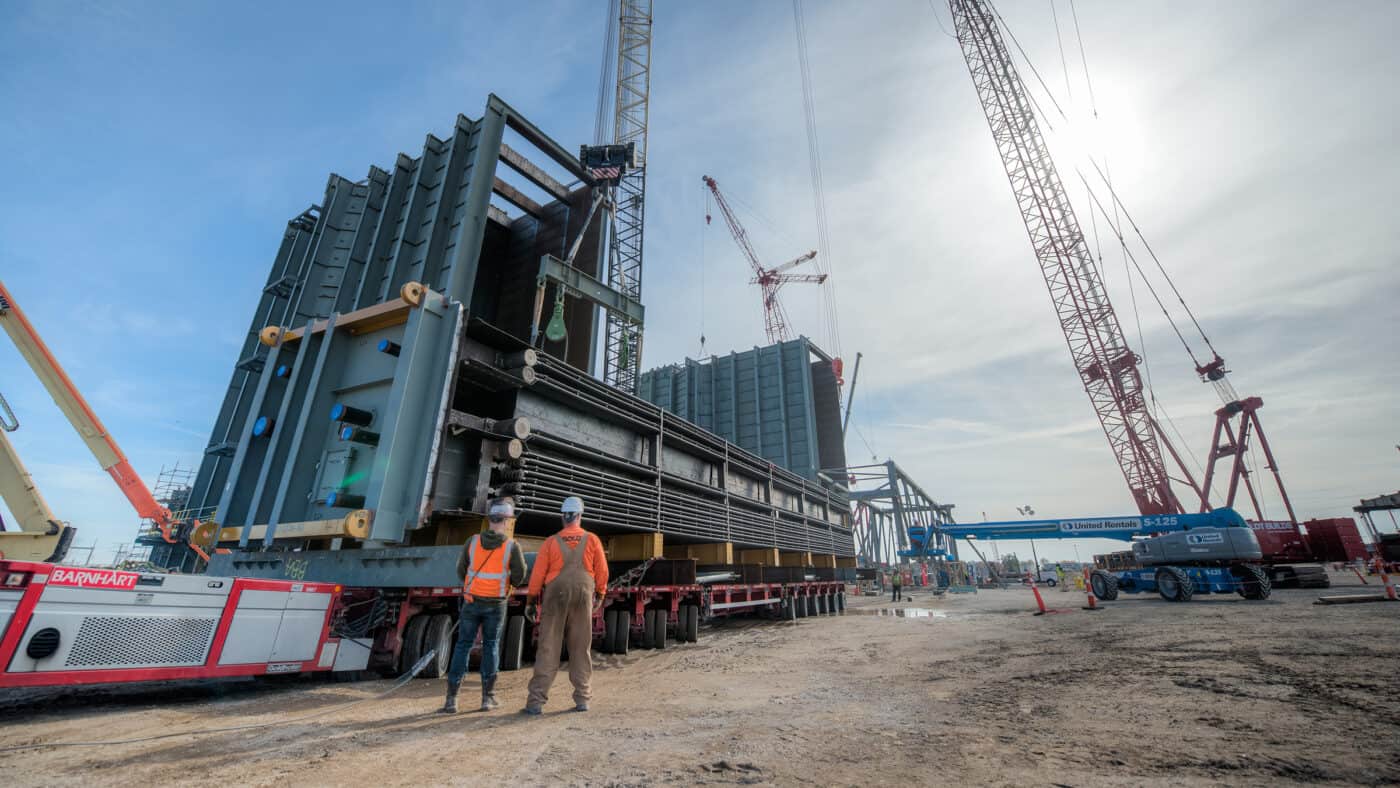
<svg viewBox="0 0 1400 788">
<path fill-rule="evenodd" d="M 559 673 L 560 647 L 568 644 L 568 682 L 574 711 L 588 711 L 594 675 L 594 610 L 608 591 L 608 556 L 596 535 L 584 530 L 584 501 L 570 495 L 559 508 L 563 528 L 535 554 L 526 605 L 539 603 L 535 675 L 522 714 L 539 715 Z"/>
</svg>

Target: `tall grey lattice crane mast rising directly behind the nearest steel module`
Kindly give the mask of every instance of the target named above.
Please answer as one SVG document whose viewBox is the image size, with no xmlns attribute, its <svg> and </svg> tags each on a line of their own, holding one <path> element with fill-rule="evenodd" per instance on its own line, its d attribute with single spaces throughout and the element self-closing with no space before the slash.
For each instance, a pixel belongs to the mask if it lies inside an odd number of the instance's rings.
<svg viewBox="0 0 1400 788">
<path fill-rule="evenodd" d="M 616 189 L 608 284 L 641 301 L 641 245 L 647 192 L 647 113 L 651 94 L 651 0 L 622 0 L 617 29 L 617 95 L 613 141 L 636 146 L 636 162 Z M 609 314 L 603 329 L 603 381 L 637 391 L 641 323 Z"/>
</svg>

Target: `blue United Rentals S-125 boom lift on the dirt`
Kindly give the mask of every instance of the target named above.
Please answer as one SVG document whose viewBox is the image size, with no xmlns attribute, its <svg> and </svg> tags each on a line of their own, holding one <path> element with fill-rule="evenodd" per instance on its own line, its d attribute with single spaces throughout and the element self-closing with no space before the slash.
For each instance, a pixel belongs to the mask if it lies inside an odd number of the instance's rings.
<svg viewBox="0 0 1400 788">
<path fill-rule="evenodd" d="M 910 556 L 941 557 L 942 539 L 969 544 L 990 539 L 1121 539 L 1133 544 L 1133 565 L 1096 568 L 1089 575 L 1095 596 L 1106 602 L 1120 592 L 1158 592 L 1168 602 L 1187 602 L 1196 592 L 1239 593 L 1268 599 L 1268 575 L 1259 565 L 1263 553 L 1245 518 L 1231 508 L 1201 514 L 1021 519 L 1008 522 L 946 523 L 930 540 L 928 529 L 909 529 Z M 902 553 L 903 554 L 903 553 Z"/>
</svg>

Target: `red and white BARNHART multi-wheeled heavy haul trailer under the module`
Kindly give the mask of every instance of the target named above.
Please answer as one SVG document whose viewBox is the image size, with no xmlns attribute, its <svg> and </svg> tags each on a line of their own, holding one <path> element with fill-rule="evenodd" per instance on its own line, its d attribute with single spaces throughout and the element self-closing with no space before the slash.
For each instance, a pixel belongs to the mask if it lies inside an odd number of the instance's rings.
<svg viewBox="0 0 1400 788">
<path fill-rule="evenodd" d="M 666 565 L 671 564 L 671 565 Z M 846 609 L 834 570 L 753 567 L 771 582 L 708 584 L 694 561 L 644 565 L 610 586 L 594 617 L 599 649 L 694 642 L 700 623 L 746 613 L 798 619 Z M 748 567 L 736 567 L 748 570 Z M 689 574 L 687 574 L 689 572 Z M 738 572 L 735 572 L 738 574 Z M 659 577 L 666 575 L 666 577 Z M 669 579 L 668 579 L 669 578 Z M 143 574 L 0 560 L 0 689 L 294 673 L 447 673 L 458 588 Z M 510 602 L 501 669 L 533 651 L 525 595 Z"/>
</svg>

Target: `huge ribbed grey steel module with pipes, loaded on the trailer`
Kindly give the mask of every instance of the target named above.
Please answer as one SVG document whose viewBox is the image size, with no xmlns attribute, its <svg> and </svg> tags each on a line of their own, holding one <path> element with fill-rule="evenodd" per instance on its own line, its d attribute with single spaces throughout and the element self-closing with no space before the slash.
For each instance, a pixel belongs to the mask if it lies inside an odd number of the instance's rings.
<svg viewBox="0 0 1400 788">
<path fill-rule="evenodd" d="M 588 342 L 531 346 L 559 293 L 570 337 L 599 308 L 641 316 L 599 280 L 591 188 L 496 97 L 392 171 L 330 176 L 287 225 L 193 484 L 214 512 L 196 540 L 228 550 L 211 572 L 451 585 L 497 494 L 522 535 L 580 494 L 602 535 L 854 554 L 840 484 L 602 384 Z"/>
</svg>

